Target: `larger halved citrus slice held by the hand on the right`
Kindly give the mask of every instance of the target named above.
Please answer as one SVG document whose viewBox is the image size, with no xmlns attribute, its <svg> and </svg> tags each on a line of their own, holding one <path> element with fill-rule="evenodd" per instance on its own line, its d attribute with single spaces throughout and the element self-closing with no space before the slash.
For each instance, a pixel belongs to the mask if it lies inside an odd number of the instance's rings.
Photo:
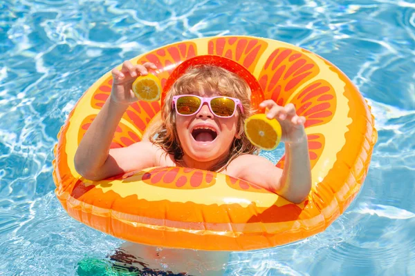
<svg viewBox="0 0 415 276">
<path fill-rule="evenodd" d="M 245 134 L 249 141 L 262 150 L 274 150 L 281 140 L 282 129 L 277 119 L 255 114 L 245 120 Z"/>
</svg>

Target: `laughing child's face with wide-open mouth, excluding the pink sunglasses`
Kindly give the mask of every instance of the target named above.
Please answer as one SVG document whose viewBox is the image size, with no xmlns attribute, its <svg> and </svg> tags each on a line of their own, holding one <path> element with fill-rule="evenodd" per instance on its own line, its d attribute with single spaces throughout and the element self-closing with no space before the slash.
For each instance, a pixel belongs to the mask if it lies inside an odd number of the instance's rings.
<svg viewBox="0 0 415 276">
<path fill-rule="evenodd" d="M 203 89 L 193 94 L 200 97 L 221 96 L 218 92 Z M 239 112 L 237 108 L 234 116 L 220 118 L 210 111 L 208 103 L 203 103 L 201 110 L 192 116 L 176 114 L 176 129 L 184 157 L 208 162 L 219 161 L 228 155 L 232 141 L 237 137 Z"/>
</svg>

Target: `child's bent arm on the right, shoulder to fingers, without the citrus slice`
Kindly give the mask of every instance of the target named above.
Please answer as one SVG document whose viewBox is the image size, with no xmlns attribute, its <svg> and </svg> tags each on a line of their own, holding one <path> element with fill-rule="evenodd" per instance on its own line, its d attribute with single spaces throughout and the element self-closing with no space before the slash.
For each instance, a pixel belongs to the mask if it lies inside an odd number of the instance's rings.
<svg viewBox="0 0 415 276">
<path fill-rule="evenodd" d="M 311 190 L 310 158 L 304 131 L 306 119 L 295 113 L 291 103 L 282 107 L 268 100 L 261 103 L 261 107 L 269 109 L 268 119 L 278 119 L 282 126 L 282 141 L 285 141 L 286 150 L 284 170 L 275 167 L 264 157 L 255 155 L 242 155 L 234 160 L 237 162 L 231 164 L 233 166 L 230 169 L 237 168 L 237 177 L 298 204 L 306 199 Z"/>
</svg>

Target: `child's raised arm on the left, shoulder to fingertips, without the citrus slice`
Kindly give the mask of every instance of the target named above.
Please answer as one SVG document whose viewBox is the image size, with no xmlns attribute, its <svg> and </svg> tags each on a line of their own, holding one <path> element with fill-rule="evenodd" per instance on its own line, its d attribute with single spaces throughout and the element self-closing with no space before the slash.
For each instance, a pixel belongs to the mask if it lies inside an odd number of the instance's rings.
<svg viewBox="0 0 415 276">
<path fill-rule="evenodd" d="M 138 142 L 127 148 L 109 148 L 122 115 L 129 104 L 137 101 L 131 84 L 138 75 L 147 75 L 149 69 L 156 69 L 156 66 L 153 63 L 133 66 L 125 61 L 121 71 L 112 70 L 111 96 L 86 130 L 75 153 L 75 169 L 86 179 L 100 180 L 154 166 L 156 147 L 150 142 Z"/>
</svg>

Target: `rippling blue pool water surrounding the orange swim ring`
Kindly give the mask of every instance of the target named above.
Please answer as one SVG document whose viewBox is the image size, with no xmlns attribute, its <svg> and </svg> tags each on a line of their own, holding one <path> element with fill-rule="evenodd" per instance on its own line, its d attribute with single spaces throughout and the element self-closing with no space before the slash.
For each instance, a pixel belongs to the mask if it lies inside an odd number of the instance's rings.
<svg viewBox="0 0 415 276">
<path fill-rule="evenodd" d="M 226 34 L 333 62 L 373 107 L 379 138 L 360 195 L 324 233 L 231 253 L 225 275 L 415 275 L 414 0 L 0 1 L 0 275 L 77 275 L 83 259 L 108 259 L 122 241 L 55 198 L 60 126 L 124 59 Z"/>
</svg>

